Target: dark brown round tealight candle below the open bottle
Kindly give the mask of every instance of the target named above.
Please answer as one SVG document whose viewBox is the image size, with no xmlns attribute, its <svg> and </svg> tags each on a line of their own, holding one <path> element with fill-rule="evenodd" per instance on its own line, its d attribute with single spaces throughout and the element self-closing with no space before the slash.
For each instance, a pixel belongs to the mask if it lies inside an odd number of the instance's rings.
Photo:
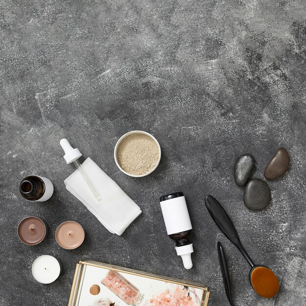
<svg viewBox="0 0 306 306">
<path fill-rule="evenodd" d="M 42 219 L 27 217 L 20 221 L 17 233 L 23 243 L 35 245 L 44 240 L 47 234 L 47 226 Z"/>
</svg>

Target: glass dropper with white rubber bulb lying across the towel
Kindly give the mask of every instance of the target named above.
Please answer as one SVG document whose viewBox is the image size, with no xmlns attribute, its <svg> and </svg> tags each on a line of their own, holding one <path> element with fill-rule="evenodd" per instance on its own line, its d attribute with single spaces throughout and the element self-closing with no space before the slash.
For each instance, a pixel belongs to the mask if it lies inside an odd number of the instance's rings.
<svg viewBox="0 0 306 306">
<path fill-rule="evenodd" d="M 70 164 L 73 162 L 75 168 L 80 171 L 81 175 L 83 175 L 93 195 L 96 197 L 98 201 L 101 201 L 101 196 L 98 190 L 96 189 L 90 177 L 87 175 L 85 169 L 78 160 L 82 156 L 82 153 L 79 151 L 78 148 L 73 149 L 66 138 L 61 139 L 60 145 L 65 152 L 64 158 L 66 160 L 66 163 Z"/>
</svg>

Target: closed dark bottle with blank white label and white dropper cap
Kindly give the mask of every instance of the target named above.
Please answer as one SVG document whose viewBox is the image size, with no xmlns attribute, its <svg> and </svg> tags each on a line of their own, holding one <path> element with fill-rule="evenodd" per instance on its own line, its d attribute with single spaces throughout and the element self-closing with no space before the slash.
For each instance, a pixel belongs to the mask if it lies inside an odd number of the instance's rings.
<svg viewBox="0 0 306 306">
<path fill-rule="evenodd" d="M 161 211 L 164 217 L 167 234 L 176 242 L 176 254 L 183 260 L 186 269 L 192 268 L 191 253 L 193 244 L 189 241 L 192 225 L 182 192 L 160 198 Z"/>
</svg>

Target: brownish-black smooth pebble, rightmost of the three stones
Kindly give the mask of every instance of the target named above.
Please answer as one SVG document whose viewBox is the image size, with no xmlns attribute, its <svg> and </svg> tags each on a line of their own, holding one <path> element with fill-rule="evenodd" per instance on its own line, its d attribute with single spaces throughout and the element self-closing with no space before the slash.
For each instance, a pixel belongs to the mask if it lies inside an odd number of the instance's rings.
<svg viewBox="0 0 306 306">
<path fill-rule="evenodd" d="M 290 166 L 290 156 L 285 148 L 278 148 L 264 169 L 264 177 L 274 180 L 284 175 Z"/>
</svg>

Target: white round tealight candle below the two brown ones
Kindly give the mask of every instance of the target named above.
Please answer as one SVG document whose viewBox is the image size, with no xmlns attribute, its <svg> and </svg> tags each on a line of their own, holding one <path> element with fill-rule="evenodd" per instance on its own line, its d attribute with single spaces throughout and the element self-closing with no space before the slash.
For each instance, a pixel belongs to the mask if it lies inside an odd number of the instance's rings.
<svg viewBox="0 0 306 306">
<path fill-rule="evenodd" d="M 42 255 L 32 264 L 32 274 L 42 284 L 54 282 L 61 274 L 61 263 L 53 256 Z"/>
</svg>

